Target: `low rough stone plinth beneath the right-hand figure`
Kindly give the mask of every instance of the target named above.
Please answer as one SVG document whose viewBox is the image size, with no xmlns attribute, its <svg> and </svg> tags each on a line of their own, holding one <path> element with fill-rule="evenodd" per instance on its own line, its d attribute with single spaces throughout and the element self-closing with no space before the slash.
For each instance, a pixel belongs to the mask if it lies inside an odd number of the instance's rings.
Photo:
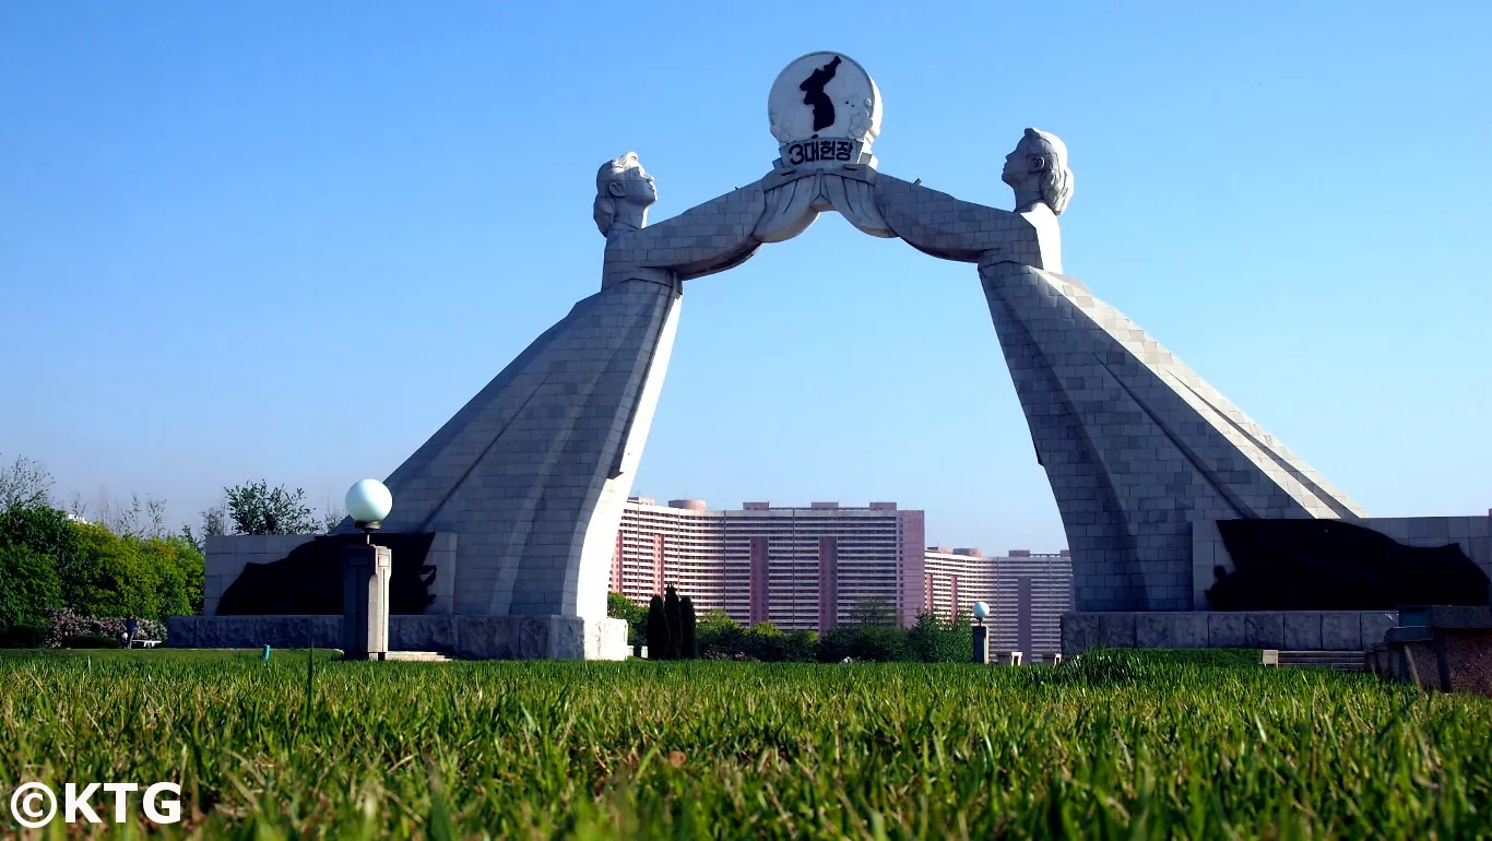
<svg viewBox="0 0 1492 841">
<path fill-rule="evenodd" d="M 1367 652 L 1397 623 L 1394 610 L 1064 613 L 1062 653 L 1098 647 Z"/>
</svg>

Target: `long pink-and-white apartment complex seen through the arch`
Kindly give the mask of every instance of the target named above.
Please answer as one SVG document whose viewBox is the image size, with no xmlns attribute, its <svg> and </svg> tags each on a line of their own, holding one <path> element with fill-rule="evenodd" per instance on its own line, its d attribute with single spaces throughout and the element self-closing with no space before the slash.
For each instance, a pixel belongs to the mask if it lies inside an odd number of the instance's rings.
<svg viewBox="0 0 1492 841">
<path fill-rule="evenodd" d="M 965 614 L 991 605 L 992 643 L 1006 650 L 1061 650 L 1061 614 L 1073 608 L 1067 552 L 927 547 L 924 511 L 895 503 L 847 507 L 746 503 L 710 510 L 701 500 L 665 505 L 627 501 L 610 585 L 646 604 L 667 585 L 704 614 L 724 610 L 743 625 L 825 631 L 850 620 L 862 599 L 885 599 L 904 625 L 924 611 Z"/>
</svg>

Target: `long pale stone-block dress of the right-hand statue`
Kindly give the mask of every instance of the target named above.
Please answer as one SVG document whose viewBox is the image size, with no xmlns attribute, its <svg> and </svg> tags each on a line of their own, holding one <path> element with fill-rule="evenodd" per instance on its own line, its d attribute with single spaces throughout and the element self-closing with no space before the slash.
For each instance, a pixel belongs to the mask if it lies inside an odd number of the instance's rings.
<svg viewBox="0 0 1492 841">
<path fill-rule="evenodd" d="M 1080 611 L 1192 610 L 1194 523 L 1362 514 L 1080 282 L 1015 262 L 980 276 Z"/>
</svg>

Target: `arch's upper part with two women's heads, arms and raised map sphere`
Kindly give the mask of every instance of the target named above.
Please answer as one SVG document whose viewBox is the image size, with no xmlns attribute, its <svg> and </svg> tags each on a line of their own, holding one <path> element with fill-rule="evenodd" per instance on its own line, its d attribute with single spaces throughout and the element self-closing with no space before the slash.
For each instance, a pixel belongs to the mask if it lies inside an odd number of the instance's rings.
<svg viewBox="0 0 1492 841">
<path fill-rule="evenodd" d="M 944 259 L 1061 271 L 1056 216 L 1067 209 L 1073 174 L 1055 134 L 1026 128 L 1007 155 L 1001 179 L 1016 194 L 1010 212 L 879 173 L 871 145 L 880 133 L 880 91 L 843 55 L 809 54 L 789 64 L 767 110 L 780 154 L 773 170 L 653 227 L 648 209 L 658 189 L 637 154 L 601 164 L 594 219 L 607 237 L 603 288 L 624 280 L 674 286 L 724 271 L 762 243 L 803 233 L 824 210 Z"/>
</svg>

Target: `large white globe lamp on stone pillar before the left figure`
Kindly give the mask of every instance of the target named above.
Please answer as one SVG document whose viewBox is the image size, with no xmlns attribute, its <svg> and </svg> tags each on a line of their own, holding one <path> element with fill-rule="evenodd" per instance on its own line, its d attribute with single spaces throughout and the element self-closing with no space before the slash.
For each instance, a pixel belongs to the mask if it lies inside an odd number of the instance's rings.
<svg viewBox="0 0 1492 841">
<path fill-rule="evenodd" d="M 373 532 L 394 508 L 394 497 L 382 482 L 364 479 L 348 489 L 346 505 L 364 540 L 342 547 L 342 656 L 385 661 L 394 555 L 386 546 L 373 543 Z"/>
</svg>

